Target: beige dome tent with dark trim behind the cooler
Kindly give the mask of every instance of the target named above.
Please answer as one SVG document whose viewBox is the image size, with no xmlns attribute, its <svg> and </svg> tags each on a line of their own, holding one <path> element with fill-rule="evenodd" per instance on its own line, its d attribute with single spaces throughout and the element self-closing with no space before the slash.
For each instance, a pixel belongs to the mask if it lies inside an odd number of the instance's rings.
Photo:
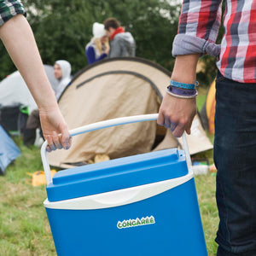
<svg viewBox="0 0 256 256">
<path fill-rule="evenodd" d="M 157 113 L 170 76 L 165 68 L 141 58 L 98 61 L 73 77 L 59 106 L 70 129 L 104 119 Z M 198 116 L 188 138 L 191 154 L 212 148 Z M 72 148 L 49 154 L 49 164 L 70 167 L 96 154 L 114 159 L 153 148 L 174 148 L 179 143 L 181 140 L 156 122 L 115 126 L 73 137 Z"/>
</svg>

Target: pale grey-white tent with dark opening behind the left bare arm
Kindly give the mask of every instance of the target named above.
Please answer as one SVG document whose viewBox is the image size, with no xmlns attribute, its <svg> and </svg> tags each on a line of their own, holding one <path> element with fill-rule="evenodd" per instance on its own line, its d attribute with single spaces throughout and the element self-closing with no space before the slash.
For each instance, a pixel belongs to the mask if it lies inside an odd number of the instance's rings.
<svg viewBox="0 0 256 256">
<path fill-rule="evenodd" d="M 53 67 L 44 65 L 44 70 L 55 90 L 57 80 Z M 15 71 L 0 82 L 0 120 L 8 131 L 19 131 L 20 109 L 22 112 L 31 113 L 35 108 L 37 104 L 19 71 Z"/>
</svg>

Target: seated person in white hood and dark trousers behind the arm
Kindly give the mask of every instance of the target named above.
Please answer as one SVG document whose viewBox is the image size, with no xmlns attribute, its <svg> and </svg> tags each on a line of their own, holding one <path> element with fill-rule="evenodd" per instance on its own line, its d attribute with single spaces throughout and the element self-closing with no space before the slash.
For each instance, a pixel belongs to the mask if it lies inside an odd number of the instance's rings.
<svg viewBox="0 0 256 256">
<path fill-rule="evenodd" d="M 54 75 L 55 79 L 59 81 L 59 84 L 55 88 L 55 97 L 58 101 L 61 97 L 62 92 L 66 89 L 67 85 L 72 79 L 70 63 L 64 60 L 55 61 Z M 39 129 L 41 133 L 39 110 L 34 109 L 26 120 L 26 129 L 23 135 L 23 143 L 26 146 L 33 145 L 35 143 L 37 129 Z"/>
</svg>

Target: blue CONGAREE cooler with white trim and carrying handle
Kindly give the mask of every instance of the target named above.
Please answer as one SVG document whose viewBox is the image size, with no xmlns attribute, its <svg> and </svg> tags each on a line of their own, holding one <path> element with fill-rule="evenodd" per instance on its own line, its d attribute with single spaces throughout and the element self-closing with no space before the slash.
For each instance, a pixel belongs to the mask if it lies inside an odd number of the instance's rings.
<svg viewBox="0 0 256 256">
<path fill-rule="evenodd" d="M 157 116 L 109 119 L 70 135 Z M 137 154 L 57 172 L 52 179 L 44 142 L 44 207 L 57 254 L 207 256 L 185 136 L 183 145 L 185 154 L 177 148 Z"/>
</svg>

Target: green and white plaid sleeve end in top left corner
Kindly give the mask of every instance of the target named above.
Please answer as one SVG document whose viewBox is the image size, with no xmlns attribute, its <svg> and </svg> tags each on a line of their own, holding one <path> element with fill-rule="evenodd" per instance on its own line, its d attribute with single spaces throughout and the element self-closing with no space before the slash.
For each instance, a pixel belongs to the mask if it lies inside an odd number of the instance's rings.
<svg viewBox="0 0 256 256">
<path fill-rule="evenodd" d="M 26 16 L 26 11 L 20 0 L 0 0 L 0 26 L 19 14 Z"/>
</svg>

